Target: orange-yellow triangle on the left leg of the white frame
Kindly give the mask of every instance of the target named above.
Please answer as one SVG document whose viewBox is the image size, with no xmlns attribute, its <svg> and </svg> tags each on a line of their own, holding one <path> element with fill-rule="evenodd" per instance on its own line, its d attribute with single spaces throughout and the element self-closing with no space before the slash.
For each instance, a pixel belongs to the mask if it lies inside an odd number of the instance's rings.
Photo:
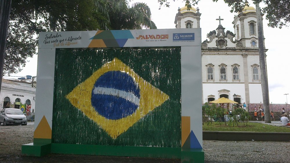
<svg viewBox="0 0 290 163">
<path fill-rule="evenodd" d="M 51 139 L 51 128 L 50 128 L 45 116 L 42 117 L 37 128 L 35 129 L 34 138 Z"/>
</svg>

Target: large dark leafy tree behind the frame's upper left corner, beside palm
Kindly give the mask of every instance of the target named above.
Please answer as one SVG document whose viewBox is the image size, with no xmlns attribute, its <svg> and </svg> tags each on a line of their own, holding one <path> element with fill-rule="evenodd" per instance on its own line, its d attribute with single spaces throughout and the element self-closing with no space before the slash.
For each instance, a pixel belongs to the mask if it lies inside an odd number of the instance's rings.
<svg viewBox="0 0 290 163">
<path fill-rule="evenodd" d="M 39 32 L 102 28 L 105 4 L 103 0 L 13 0 L 3 74 L 19 72 L 27 57 L 37 54 Z"/>
</svg>

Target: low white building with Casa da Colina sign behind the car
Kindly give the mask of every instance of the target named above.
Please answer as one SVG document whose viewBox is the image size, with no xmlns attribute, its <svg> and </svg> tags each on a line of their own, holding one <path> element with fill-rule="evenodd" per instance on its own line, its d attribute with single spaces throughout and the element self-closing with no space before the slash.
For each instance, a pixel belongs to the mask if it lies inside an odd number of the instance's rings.
<svg viewBox="0 0 290 163">
<path fill-rule="evenodd" d="M 19 82 L 19 81 L 18 81 Z M 17 84 L 11 80 L 2 79 L 0 93 L 0 110 L 2 108 L 19 108 L 21 105 L 28 106 L 31 113 L 35 113 L 35 91 L 31 83 L 20 82 Z"/>
</svg>

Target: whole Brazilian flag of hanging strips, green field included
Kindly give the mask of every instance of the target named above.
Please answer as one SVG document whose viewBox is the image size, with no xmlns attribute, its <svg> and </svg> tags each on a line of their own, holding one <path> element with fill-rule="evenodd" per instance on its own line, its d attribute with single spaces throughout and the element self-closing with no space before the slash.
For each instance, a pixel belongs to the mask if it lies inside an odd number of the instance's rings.
<svg viewBox="0 0 290 163">
<path fill-rule="evenodd" d="M 56 49 L 53 143 L 180 148 L 180 124 L 180 48 Z"/>
</svg>

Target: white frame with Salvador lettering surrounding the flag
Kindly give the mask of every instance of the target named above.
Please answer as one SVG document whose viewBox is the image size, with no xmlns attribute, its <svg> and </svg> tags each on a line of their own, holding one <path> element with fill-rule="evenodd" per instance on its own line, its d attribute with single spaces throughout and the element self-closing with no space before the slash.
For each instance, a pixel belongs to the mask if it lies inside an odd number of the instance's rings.
<svg viewBox="0 0 290 163">
<path fill-rule="evenodd" d="M 99 42 L 92 45 L 96 41 L 94 37 L 100 32 L 102 31 L 39 33 L 35 130 L 43 117 L 52 129 L 56 48 L 181 47 L 181 116 L 190 118 L 190 123 L 182 126 L 185 125 L 194 132 L 202 147 L 201 29 L 111 31 L 116 34 L 115 39 L 122 39 L 128 33 L 132 35 L 122 47 L 99 46 L 102 40 L 97 40 Z M 182 139 L 183 137 L 182 133 Z"/>
</svg>

